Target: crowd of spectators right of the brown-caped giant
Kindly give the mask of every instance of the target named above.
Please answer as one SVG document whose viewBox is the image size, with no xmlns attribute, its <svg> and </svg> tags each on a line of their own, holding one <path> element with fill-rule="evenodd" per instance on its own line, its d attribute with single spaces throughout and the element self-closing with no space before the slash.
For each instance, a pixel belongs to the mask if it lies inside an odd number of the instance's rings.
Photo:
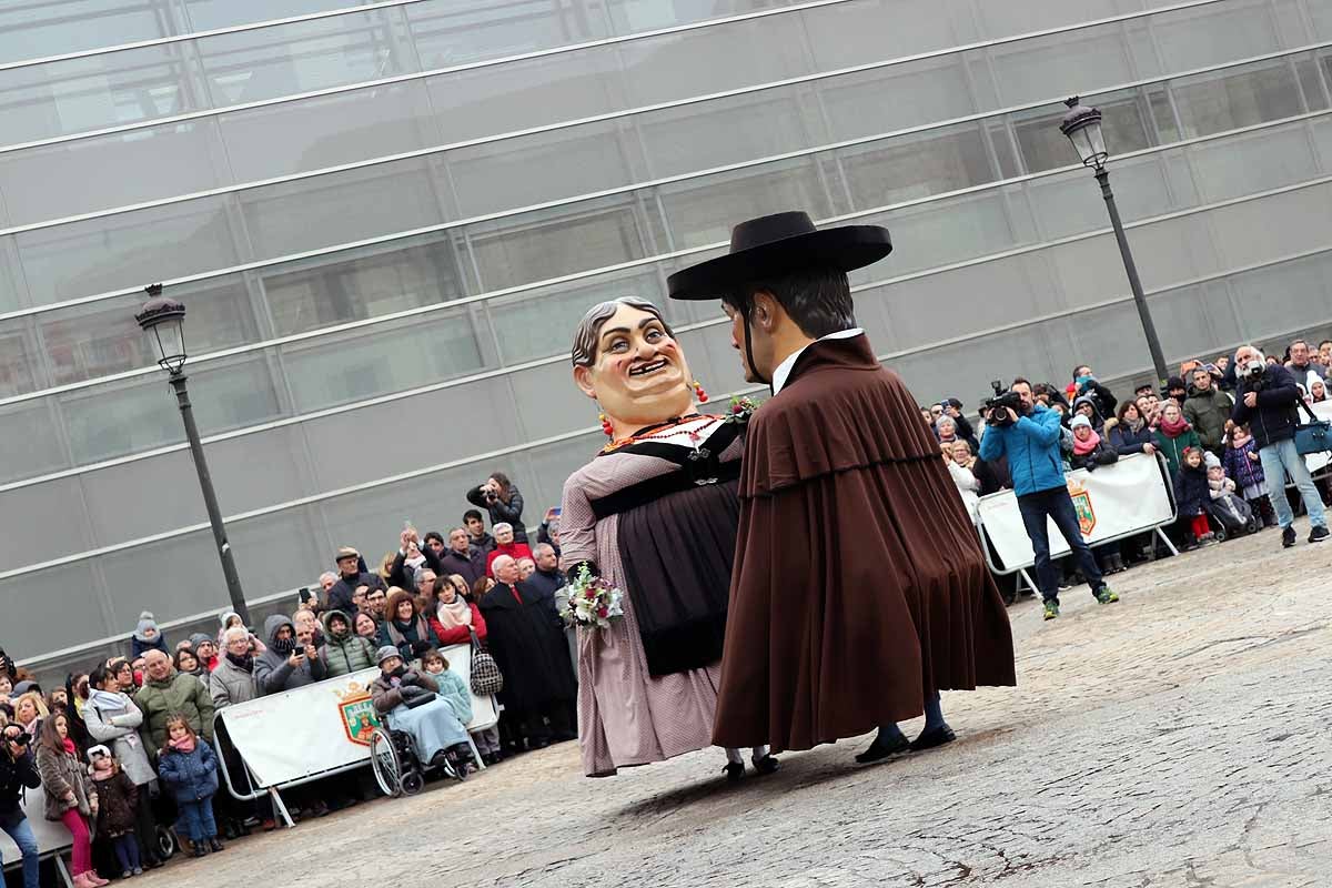
<svg viewBox="0 0 1332 888">
<path fill-rule="evenodd" d="M 1245 346 L 1212 361 L 1187 361 L 1160 391 L 1144 385 L 1132 397 L 1116 395 L 1087 365 L 1074 367 L 1067 385 L 1030 389 L 1035 403 L 1059 417 L 1064 471 L 1096 470 L 1128 454 L 1163 457 L 1179 506 L 1179 521 L 1167 533 L 1181 549 L 1267 527 L 1281 527 L 1283 546 L 1291 546 L 1291 522 L 1301 507 L 1311 519 L 1309 542 L 1328 535 L 1324 505 L 1332 490 L 1325 478 L 1309 478 L 1292 438 L 1295 423 L 1309 415 L 1297 413 L 1300 402 L 1312 411 L 1327 401 L 1329 374 L 1332 339 L 1316 350 L 1296 339 L 1281 357 Z M 986 423 L 968 421 L 959 399 L 920 413 L 975 519 L 980 497 L 1015 486 L 1007 458 L 980 458 Z M 1100 572 L 1114 574 L 1160 550 L 1151 534 L 1140 534 L 1094 553 Z M 1084 579 L 1072 560 L 1062 564 L 1062 587 Z"/>
</svg>

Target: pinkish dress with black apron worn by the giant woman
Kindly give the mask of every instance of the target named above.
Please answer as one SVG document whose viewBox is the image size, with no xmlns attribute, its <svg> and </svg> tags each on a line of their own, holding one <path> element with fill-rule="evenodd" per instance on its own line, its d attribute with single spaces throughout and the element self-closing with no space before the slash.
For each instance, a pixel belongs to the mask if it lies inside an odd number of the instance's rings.
<svg viewBox="0 0 1332 888">
<path fill-rule="evenodd" d="M 593 562 L 625 591 L 623 619 L 578 630 L 578 739 L 589 776 L 711 746 L 738 431 L 717 417 L 686 419 L 598 455 L 565 482 L 561 567 Z"/>
</svg>

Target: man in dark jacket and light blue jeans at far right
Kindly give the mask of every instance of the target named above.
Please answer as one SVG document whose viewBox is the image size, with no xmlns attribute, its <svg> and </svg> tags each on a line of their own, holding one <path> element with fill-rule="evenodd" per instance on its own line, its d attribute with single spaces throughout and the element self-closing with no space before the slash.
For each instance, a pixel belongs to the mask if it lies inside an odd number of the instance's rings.
<svg viewBox="0 0 1332 888">
<path fill-rule="evenodd" d="M 1231 418 L 1236 425 L 1248 423 L 1253 435 L 1263 474 L 1272 491 L 1272 505 L 1276 506 L 1276 522 L 1281 526 L 1281 546 L 1289 549 L 1295 545 L 1295 515 L 1285 498 L 1285 475 L 1295 482 L 1309 513 L 1309 542 L 1327 539 L 1323 498 L 1313 486 L 1304 457 L 1295 449 L 1295 426 L 1300 422 L 1300 390 L 1295 377 L 1285 367 L 1268 363 L 1252 345 L 1240 346 L 1235 353 L 1235 365 L 1239 386 Z"/>
</svg>

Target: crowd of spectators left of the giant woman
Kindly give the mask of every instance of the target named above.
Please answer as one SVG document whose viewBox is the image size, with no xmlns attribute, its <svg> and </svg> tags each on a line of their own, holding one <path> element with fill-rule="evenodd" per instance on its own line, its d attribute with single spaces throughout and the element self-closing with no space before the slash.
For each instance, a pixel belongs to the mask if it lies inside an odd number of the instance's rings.
<svg viewBox="0 0 1332 888">
<path fill-rule="evenodd" d="M 482 647 L 503 676 L 500 724 L 472 735 L 482 762 L 573 739 L 575 674 L 555 603 L 565 584 L 559 510 L 547 510 L 529 535 L 522 494 L 502 473 L 466 499 L 476 507 L 461 525 L 424 535 L 405 527 L 377 570 L 357 549 L 338 549 L 334 570 L 301 591 L 290 615 L 261 627 L 226 611 L 216 635 L 170 644 L 145 611 L 124 656 L 51 692 L 0 651 L 0 828 L 23 853 L 25 888 L 39 884 L 37 845 L 20 805 L 25 787 L 44 788 L 41 816 L 73 836 L 76 888 L 108 884 L 99 869 L 133 877 L 163 865 L 160 824 L 173 825 L 190 856 L 222 851 L 222 837 L 274 828 L 266 800 L 218 792 L 218 758 L 234 779 L 244 767 L 214 736 L 214 712 L 328 678 L 378 668 L 370 691 L 381 720 L 410 734 L 424 763 L 466 776 L 472 691 L 441 650 Z M 369 792 L 361 775 L 284 796 L 302 817 Z"/>
</svg>

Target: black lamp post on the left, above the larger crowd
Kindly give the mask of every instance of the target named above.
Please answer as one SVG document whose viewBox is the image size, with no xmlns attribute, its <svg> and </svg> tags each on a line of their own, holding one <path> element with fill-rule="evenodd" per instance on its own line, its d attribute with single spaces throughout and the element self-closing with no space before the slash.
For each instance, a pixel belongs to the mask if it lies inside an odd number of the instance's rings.
<svg viewBox="0 0 1332 888">
<path fill-rule="evenodd" d="M 249 608 L 245 607 L 245 594 L 241 591 L 241 578 L 236 574 L 232 559 L 232 545 L 226 542 L 226 527 L 222 525 L 222 510 L 217 507 L 217 494 L 213 491 L 213 477 L 208 473 L 204 458 L 204 445 L 198 439 L 198 426 L 194 423 L 194 409 L 189 403 L 189 390 L 185 387 L 185 306 L 163 296 L 163 285 L 152 284 L 144 288 L 148 301 L 135 316 L 139 326 L 148 333 L 159 354 L 157 366 L 170 374 L 172 389 L 176 390 L 176 403 L 181 419 L 185 421 L 185 437 L 189 439 L 189 453 L 194 458 L 194 471 L 198 473 L 198 489 L 204 494 L 204 509 L 208 510 L 208 523 L 213 527 L 213 541 L 217 555 L 222 560 L 222 574 L 226 576 L 226 592 L 232 598 L 232 610 L 249 626 Z"/>
</svg>

